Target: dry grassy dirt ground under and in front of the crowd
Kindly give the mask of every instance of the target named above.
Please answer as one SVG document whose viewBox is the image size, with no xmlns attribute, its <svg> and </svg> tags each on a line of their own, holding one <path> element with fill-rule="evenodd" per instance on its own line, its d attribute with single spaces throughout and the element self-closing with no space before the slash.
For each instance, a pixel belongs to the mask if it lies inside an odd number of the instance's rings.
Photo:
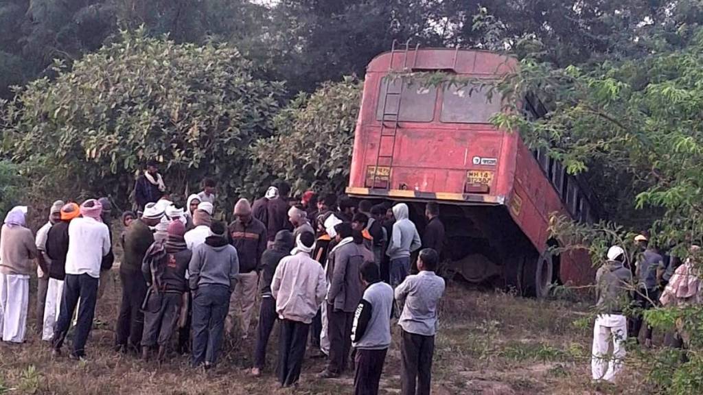
<svg viewBox="0 0 703 395">
<path fill-rule="evenodd" d="M 33 295 L 32 295 L 33 296 Z M 279 389 L 271 370 L 276 362 L 277 334 L 269 346 L 264 376 L 247 375 L 254 339 L 226 339 L 221 363 L 207 373 L 188 366 L 185 356 L 172 356 L 158 367 L 112 350 L 120 284 L 110 279 L 96 318 L 107 323 L 93 330 L 87 361 L 53 359 L 37 335 L 34 299 L 29 336 L 22 345 L 0 344 L 0 394 L 351 394 L 352 375 L 318 380 L 324 360 L 306 358 L 296 389 Z M 433 394 L 622 394 L 619 387 L 592 384 L 591 328 L 588 305 L 537 301 L 502 292 L 468 290 L 450 283 L 441 306 L 433 368 Z M 382 394 L 399 394 L 399 333 L 389 351 Z"/>
</svg>

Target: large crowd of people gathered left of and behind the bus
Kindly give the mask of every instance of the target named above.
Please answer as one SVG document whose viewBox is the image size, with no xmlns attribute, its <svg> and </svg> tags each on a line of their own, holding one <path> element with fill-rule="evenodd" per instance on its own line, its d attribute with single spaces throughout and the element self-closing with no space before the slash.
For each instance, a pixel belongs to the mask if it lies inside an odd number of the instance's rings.
<svg viewBox="0 0 703 395">
<path fill-rule="evenodd" d="M 0 332 L 4 342 L 26 338 L 30 275 L 37 270 L 41 339 L 59 357 L 67 334 L 70 358 L 86 358 L 105 276 L 122 245 L 122 299 L 115 351 L 160 363 L 191 354 L 194 367 L 219 361 L 225 336 L 247 341 L 259 303 L 251 374 L 266 369 L 273 328 L 280 327 L 277 376 L 295 385 L 307 350 L 328 358 L 321 379 L 354 370 L 356 394 L 378 394 L 392 321 L 400 326 L 402 394 L 430 394 L 437 305 L 444 280 L 435 274 L 444 226 L 428 203 L 423 238 L 408 206 L 358 204 L 307 191 L 290 198 L 281 182 L 250 203 L 240 199 L 228 226 L 217 182 L 172 201 L 157 163 L 134 188 L 134 212 L 122 213 L 112 235 L 108 198 L 57 200 L 36 233 L 27 207 L 6 214 L 0 233 Z M 417 256 L 411 274 L 411 254 Z M 37 264 L 35 264 L 35 262 Z M 278 323 L 278 324 L 277 324 Z M 353 366 L 353 368 L 352 368 Z"/>
</svg>

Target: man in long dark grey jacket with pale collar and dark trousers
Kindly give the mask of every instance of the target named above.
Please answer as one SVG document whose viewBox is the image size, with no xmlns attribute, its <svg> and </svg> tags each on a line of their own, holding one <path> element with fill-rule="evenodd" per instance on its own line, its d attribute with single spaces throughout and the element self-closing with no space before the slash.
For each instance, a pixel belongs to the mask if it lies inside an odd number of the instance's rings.
<svg viewBox="0 0 703 395">
<path fill-rule="evenodd" d="M 352 320 L 363 295 L 359 267 L 363 264 L 363 245 L 356 245 L 352 225 L 342 222 L 335 226 L 337 245 L 328 256 L 327 294 L 328 337 L 330 361 L 321 378 L 339 377 L 347 369 L 352 349 Z"/>
</svg>

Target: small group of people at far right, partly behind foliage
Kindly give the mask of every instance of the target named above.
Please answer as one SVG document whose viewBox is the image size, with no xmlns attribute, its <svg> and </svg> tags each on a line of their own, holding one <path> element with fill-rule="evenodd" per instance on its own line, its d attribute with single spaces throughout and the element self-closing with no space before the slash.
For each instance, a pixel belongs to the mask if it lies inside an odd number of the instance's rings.
<svg viewBox="0 0 703 395">
<path fill-rule="evenodd" d="M 593 327 L 593 380 L 616 380 L 628 337 L 639 343 L 640 332 L 644 332 L 645 347 L 652 347 L 652 327 L 643 328 L 643 311 L 703 302 L 701 273 L 695 264 L 700 261 L 699 246 L 692 245 L 682 260 L 659 252 L 647 235 L 637 235 L 634 242 L 638 247 L 635 259 L 628 259 L 623 247 L 613 245 L 595 276 L 598 315 Z M 676 331 L 665 335 L 666 346 L 688 347 L 690 336 L 682 324 L 679 320 Z"/>
</svg>

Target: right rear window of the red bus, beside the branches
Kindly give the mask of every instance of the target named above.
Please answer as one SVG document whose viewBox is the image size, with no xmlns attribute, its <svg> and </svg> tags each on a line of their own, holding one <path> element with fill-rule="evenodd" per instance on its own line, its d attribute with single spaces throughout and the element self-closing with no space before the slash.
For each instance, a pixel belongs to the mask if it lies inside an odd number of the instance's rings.
<svg viewBox="0 0 703 395">
<path fill-rule="evenodd" d="M 501 112 L 498 95 L 494 94 L 489 99 L 478 86 L 451 85 L 444 89 L 441 122 L 486 124 L 496 112 Z"/>
</svg>

